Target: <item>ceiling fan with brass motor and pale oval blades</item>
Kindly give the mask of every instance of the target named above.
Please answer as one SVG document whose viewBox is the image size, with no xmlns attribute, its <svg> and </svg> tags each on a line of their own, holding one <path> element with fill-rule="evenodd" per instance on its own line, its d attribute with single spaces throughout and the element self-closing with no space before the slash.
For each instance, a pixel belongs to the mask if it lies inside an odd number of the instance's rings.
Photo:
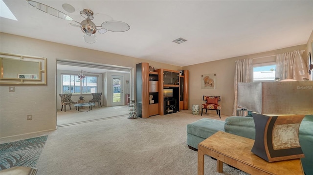
<svg viewBox="0 0 313 175">
<path fill-rule="evenodd" d="M 61 18 L 61 19 L 66 19 L 66 20 L 70 20 L 70 21 L 74 21 L 77 22 L 77 24 L 72 24 L 70 23 L 70 25 L 72 26 L 77 26 L 80 27 L 80 29 L 83 31 L 83 33 L 85 34 L 83 36 L 83 39 L 87 42 L 87 43 L 94 43 L 97 40 L 97 37 L 95 36 L 95 33 L 98 31 L 98 33 L 100 34 L 104 34 L 107 31 L 111 31 L 111 32 L 125 32 L 128 31 L 131 27 L 122 21 L 117 21 L 117 20 L 109 20 L 109 21 L 104 21 L 101 26 L 96 26 L 91 20 L 93 19 L 93 12 L 90 9 L 84 9 L 82 11 L 80 11 L 80 15 L 82 17 L 84 17 L 85 19 L 81 22 L 78 22 L 74 19 L 72 19 L 70 16 L 68 16 L 67 14 L 53 8 L 50 7 L 48 5 L 45 5 L 43 3 L 40 2 L 36 2 L 33 0 L 26 0 L 31 6 L 37 8 L 38 10 L 41 10 L 47 14 L 50 14 L 52 16 Z M 72 8 L 73 10 L 71 10 L 71 12 L 74 12 L 75 9 L 74 7 L 72 7 L 71 5 L 67 4 L 67 8 Z"/>
</svg>

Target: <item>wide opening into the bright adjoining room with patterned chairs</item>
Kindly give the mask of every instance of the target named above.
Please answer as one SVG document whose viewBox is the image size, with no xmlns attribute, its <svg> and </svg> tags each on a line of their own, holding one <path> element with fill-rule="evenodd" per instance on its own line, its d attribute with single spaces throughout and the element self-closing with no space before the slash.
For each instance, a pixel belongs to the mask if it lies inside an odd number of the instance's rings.
<svg viewBox="0 0 313 175">
<path fill-rule="evenodd" d="M 100 64 L 90 64 L 90 63 L 83 63 L 83 62 L 72 62 L 66 60 L 58 60 L 57 65 L 57 92 L 56 92 L 56 99 L 57 99 L 57 126 L 66 126 L 70 124 L 76 124 L 81 122 L 87 121 L 95 121 L 98 119 L 103 118 L 110 118 L 110 117 L 118 117 L 118 116 L 125 116 L 128 115 L 128 107 L 124 105 L 125 103 L 125 94 L 134 93 L 132 89 L 132 79 L 134 79 L 134 70 L 130 67 L 116 67 L 109 65 L 100 65 Z M 98 106 L 93 107 L 92 110 L 83 113 L 78 112 L 75 110 L 75 107 L 71 105 L 71 110 L 69 110 L 69 106 L 67 106 L 67 111 L 64 112 L 61 110 L 61 98 L 59 94 L 63 93 L 63 86 L 66 85 L 66 82 L 63 82 L 62 76 L 63 74 L 70 74 L 70 75 L 78 75 L 83 73 L 86 77 L 87 76 L 98 76 L 97 84 L 97 92 L 102 92 L 102 107 L 98 108 Z M 113 76 L 114 75 L 114 76 Z M 112 106 L 112 84 L 111 78 L 117 78 L 116 85 L 117 93 L 114 94 L 117 97 L 117 103 L 114 103 Z M 108 78 L 108 80 L 107 80 Z M 111 81 L 111 82 L 110 82 Z M 115 81 L 115 80 L 114 80 Z M 126 81 L 126 86 L 124 86 L 123 81 Z M 123 88 L 126 88 L 123 90 Z M 119 89 L 119 91 L 118 91 Z M 71 99 L 73 101 L 78 101 L 80 96 L 84 97 L 84 100 L 88 102 L 92 95 L 91 93 L 82 93 L 82 94 L 73 94 Z M 96 104 L 97 105 L 97 104 Z M 106 115 L 103 115 L 106 114 Z"/>
</svg>

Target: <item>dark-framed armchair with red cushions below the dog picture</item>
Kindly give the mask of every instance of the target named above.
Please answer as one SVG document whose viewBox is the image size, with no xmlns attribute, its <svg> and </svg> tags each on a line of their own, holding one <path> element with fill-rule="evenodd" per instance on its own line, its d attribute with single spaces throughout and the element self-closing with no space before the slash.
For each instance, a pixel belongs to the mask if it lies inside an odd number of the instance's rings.
<svg viewBox="0 0 313 175">
<path fill-rule="evenodd" d="M 203 113 L 203 109 L 205 109 L 205 114 L 207 110 L 215 110 L 217 115 L 221 118 L 221 105 L 219 105 L 219 101 L 221 101 L 221 96 L 203 96 L 202 100 L 205 101 L 205 104 L 201 105 L 201 116 Z"/>
</svg>

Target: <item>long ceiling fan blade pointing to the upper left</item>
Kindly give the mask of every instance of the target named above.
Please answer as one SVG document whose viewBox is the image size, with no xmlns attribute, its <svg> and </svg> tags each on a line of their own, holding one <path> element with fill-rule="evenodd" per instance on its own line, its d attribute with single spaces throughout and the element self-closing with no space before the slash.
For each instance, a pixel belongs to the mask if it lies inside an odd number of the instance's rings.
<svg viewBox="0 0 313 175">
<path fill-rule="evenodd" d="M 65 13 L 63 13 L 63 12 L 53 8 L 53 7 L 45 5 L 43 3 L 36 2 L 36 1 L 33 1 L 33 0 L 27 0 L 27 2 L 29 3 L 29 5 L 37 8 L 38 10 L 41 10 L 41 11 L 47 13 L 47 14 L 50 14 L 52 16 L 55 16 L 55 17 L 58 17 L 58 18 L 61 18 L 61 19 L 66 19 L 66 20 L 73 20 L 67 14 L 65 14 Z"/>
</svg>

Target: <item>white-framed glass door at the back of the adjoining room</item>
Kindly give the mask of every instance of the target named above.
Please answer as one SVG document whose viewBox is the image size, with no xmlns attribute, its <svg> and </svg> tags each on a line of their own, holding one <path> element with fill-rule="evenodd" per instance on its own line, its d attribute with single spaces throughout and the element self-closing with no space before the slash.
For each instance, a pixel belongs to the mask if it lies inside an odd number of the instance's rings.
<svg viewBox="0 0 313 175">
<path fill-rule="evenodd" d="M 124 104 L 124 80 L 123 76 L 111 76 L 112 82 L 112 106 L 121 106 Z"/>
</svg>

